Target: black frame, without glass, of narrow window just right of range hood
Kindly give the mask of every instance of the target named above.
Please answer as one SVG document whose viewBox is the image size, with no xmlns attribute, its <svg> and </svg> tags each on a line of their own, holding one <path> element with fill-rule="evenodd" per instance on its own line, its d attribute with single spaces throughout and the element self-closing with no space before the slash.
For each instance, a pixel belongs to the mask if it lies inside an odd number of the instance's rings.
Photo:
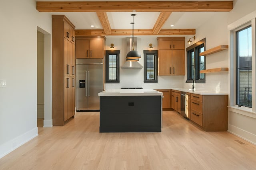
<svg viewBox="0 0 256 170">
<path fill-rule="evenodd" d="M 144 83 L 158 83 L 158 51 L 144 50 Z M 147 80 L 147 55 L 154 55 L 154 80 Z"/>
</svg>

